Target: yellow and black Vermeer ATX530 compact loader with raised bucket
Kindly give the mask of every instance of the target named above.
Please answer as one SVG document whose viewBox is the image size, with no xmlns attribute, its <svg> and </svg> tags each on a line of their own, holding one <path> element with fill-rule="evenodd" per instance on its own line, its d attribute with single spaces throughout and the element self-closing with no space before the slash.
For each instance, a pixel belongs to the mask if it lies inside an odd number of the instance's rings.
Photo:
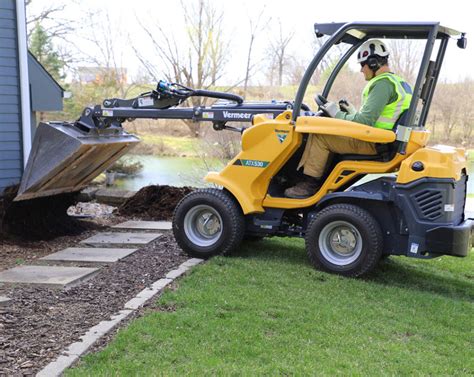
<svg viewBox="0 0 474 377">
<path fill-rule="evenodd" d="M 68 149 L 67 142 L 55 145 L 54 137 L 48 145 L 40 135 L 35 141 L 39 151 L 32 154 L 18 199 L 79 189 L 137 141 L 121 130 L 121 123 L 129 118 L 194 119 L 211 122 L 215 130 L 240 132 L 242 150 L 221 172 L 205 177 L 221 188 L 196 190 L 176 207 L 173 232 L 189 255 L 227 254 L 247 237 L 301 237 L 316 268 L 351 277 L 370 272 L 387 255 L 467 256 L 473 219 L 464 214 L 466 152 L 428 147 L 430 134 L 425 129 L 448 42 L 456 39 L 458 47 L 465 48 L 465 34 L 436 22 L 315 24 L 315 32 L 326 41 L 311 61 L 293 102 L 244 102 L 233 94 L 165 82 L 134 99 L 106 100 L 102 106 L 86 109 L 75 124 L 67 126 L 78 133 L 74 138 L 80 140 L 76 142 L 79 147 Z M 348 59 L 372 38 L 426 42 L 410 106 L 393 130 L 330 118 L 323 106 Z M 304 95 L 318 65 L 335 45 L 339 50 L 346 47 L 346 52 L 317 97 L 319 110 L 311 111 L 303 103 Z M 210 107 L 177 107 L 193 95 L 221 101 Z M 235 128 L 227 124 L 230 121 L 251 125 Z M 64 132 L 66 126 L 45 127 Z M 296 167 L 310 134 L 376 143 L 379 153 L 335 155 L 314 195 L 285 197 L 285 189 L 302 178 Z M 90 146 L 87 135 L 92 136 L 91 141 L 100 140 Z M 73 149 L 63 158 L 63 151 Z M 47 174 L 35 169 L 35 163 L 44 166 L 42 156 L 54 160 L 54 153 L 61 167 Z M 380 177 L 356 184 L 368 174 Z"/>
</svg>

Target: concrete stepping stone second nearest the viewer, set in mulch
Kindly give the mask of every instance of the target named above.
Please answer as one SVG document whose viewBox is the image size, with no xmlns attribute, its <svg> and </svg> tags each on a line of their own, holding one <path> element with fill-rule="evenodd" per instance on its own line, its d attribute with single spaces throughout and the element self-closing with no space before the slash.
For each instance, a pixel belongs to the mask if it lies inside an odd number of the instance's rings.
<svg viewBox="0 0 474 377">
<path fill-rule="evenodd" d="M 59 262 L 114 263 L 133 254 L 137 250 L 138 249 L 69 247 L 40 259 Z"/>
</svg>

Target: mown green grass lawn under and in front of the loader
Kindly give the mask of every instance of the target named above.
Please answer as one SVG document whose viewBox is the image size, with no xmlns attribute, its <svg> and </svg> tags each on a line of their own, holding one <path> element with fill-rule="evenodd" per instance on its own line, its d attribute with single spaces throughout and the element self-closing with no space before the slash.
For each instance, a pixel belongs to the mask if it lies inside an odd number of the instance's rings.
<svg viewBox="0 0 474 377">
<path fill-rule="evenodd" d="M 302 240 L 200 265 L 67 375 L 472 375 L 474 257 L 314 270 Z"/>
</svg>

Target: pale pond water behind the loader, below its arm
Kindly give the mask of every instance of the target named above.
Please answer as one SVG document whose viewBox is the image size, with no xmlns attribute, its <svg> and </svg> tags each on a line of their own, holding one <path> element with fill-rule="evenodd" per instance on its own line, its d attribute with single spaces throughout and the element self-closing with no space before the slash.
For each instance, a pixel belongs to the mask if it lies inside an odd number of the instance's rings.
<svg viewBox="0 0 474 377">
<path fill-rule="evenodd" d="M 138 191 L 148 185 L 205 187 L 204 176 L 210 170 L 219 171 L 223 164 L 217 160 L 204 161 L 192 157 L 131 156 L 143 164 L 140 174 L 130 178 L 117 178 L 114 187 Z M 474 161 L 469 161 L 468 193 L 474 194 Z M 370 179 L 370 178 L 369 178 Z"/>
</svg>

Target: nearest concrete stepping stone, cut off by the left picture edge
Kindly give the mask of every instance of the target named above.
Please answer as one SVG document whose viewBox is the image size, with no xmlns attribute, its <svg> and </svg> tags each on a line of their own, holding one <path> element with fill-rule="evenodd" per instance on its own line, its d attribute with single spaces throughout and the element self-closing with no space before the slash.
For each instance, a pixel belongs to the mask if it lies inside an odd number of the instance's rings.
<svg viewBox="0 0 474 377">
<path fill-rule="evenodd" d="M 59 266 L 19 266 L 0 272 L 0 283 L 41 284 L 71 288 L 90 279 L 98 268 Z"/>
</svg>

